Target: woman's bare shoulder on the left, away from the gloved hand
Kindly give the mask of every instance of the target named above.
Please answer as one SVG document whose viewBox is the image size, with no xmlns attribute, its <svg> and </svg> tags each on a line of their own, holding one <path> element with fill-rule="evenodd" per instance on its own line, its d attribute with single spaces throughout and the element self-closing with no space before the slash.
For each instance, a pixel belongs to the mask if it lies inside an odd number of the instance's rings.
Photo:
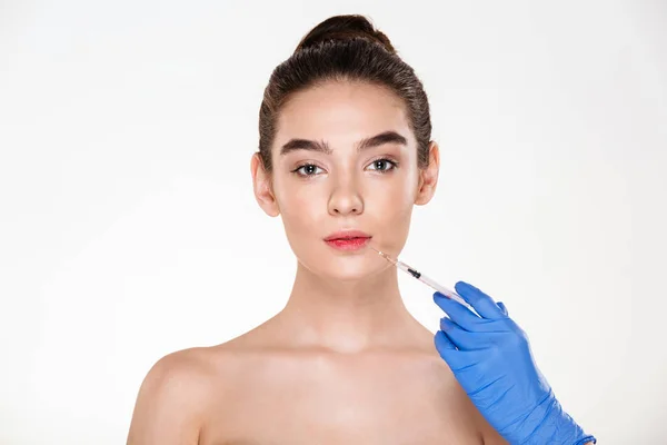
<svg viewBox="0 0 667 445">
<path fill-rule="evenodd" d="M 197 444 L 216 382 L 213 354 L 190 348 L 160 358 L 146 375 L 128 434 L 129 445 Z"/>
</svg>

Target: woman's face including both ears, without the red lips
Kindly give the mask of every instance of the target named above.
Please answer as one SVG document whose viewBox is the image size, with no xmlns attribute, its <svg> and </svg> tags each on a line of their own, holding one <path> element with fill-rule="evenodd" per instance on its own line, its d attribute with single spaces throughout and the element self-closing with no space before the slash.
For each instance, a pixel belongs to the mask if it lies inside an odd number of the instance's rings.
<svg viewBox="0 0 667 445">
<path fill-rule="evenodd" d="M 282 216 L 300 264 L 328 278 L 359 279 L 388 263 L 368 247 L 339 250 L 325 238 L 361 230 L 370 245 L 398 256 L 412 206 L 428 202 L 437 182 L 437 146 L 429 167 L 418 169 L 404 102 L 364 82 L 332 81 L 291 96 L 271 150 L 270 176 L 252 160 L 257 199 L 267 214 Z"/>
</svg>

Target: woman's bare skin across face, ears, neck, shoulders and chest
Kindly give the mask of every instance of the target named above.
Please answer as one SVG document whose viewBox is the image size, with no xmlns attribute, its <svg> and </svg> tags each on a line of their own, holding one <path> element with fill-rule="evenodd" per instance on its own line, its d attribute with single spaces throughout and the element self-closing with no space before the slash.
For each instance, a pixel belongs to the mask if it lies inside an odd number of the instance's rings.
<svg viewBox="0 0 667 445">
<path fill-rule="evenodd" d="M 429 167 L 417 167 L 408 122 L 400 98 L 367 83 L 330 82 L 290 99 L 273 170 L 257 156 L 251 162 L 258 204 L 281 215 L 298 259 L 290 298 L 240 337 L 160 359 L 141 386 L 129 445 L 506 443 L 438 355 L 434 334 L 404 306 L 396 268 L 367 248 L 323 243 L 332 231 L 360 229 L 398 256 L 412 207 L 431 199 L 439 168 L 435 142 Z M 358 149 L 386 131 L 406 144 Z M 330 151 L 281 155 L 295 138 L 325 141 Z M 315 166 L 306 169 L 311 176 L 295 172 L 305 162 Z"/>
</svg>

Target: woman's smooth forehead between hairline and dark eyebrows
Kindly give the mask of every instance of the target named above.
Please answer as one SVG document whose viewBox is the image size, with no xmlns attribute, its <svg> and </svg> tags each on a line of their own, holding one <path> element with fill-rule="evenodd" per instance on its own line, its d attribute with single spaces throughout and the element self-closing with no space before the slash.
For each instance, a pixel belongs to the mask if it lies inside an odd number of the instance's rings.
<svg viewBox="0 0 667 445">
<path fill-rule="evenodd" d="M 291 96 L 278 116 L 275 144 L 291 138 L 354 144 L 394 130 L 414 144 L 406 107 L 388 88 L 360 81 L 330 81 Z"/>
</svg>

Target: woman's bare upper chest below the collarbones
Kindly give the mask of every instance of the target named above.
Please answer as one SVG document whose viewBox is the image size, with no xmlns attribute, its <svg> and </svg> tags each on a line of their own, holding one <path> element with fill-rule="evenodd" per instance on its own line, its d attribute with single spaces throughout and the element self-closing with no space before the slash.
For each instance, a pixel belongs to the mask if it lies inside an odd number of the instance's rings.
<svg viewBox="0 0 667 445">
<path fill-rule="evenodd" d="M 291 370 L 239 382 L 225 398 L 201 445 L 484 443 L 466 394 L 432 370 Z"/>
</svg>

